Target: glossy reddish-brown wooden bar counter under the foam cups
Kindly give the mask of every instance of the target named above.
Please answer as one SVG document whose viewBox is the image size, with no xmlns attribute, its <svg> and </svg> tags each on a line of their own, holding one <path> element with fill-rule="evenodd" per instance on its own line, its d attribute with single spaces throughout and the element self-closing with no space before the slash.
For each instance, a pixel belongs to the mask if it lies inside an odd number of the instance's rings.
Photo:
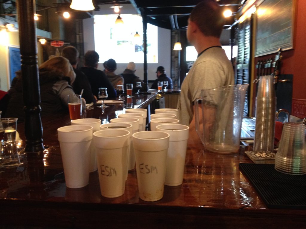
<svg viewBox="0 0 306 229">
<path fill-rule="evenodd" d="M 154 95 L 133 97 L 146 107 Z M 108 121 L 125 108 L 110 105 Z M 89 118 L 104 117 L 95 107 Z M 105 114 L 104 114 L 105 115 Z M 183 184 L 165 186 L 157 202 L 139 198 L 136 171 L 129 171 L 125 193 L 118 198 L 100 194 L 98 171 L 79 189 L 65 186 L 57 128 L 69 125 L 69 114 L 43 117 L 46 147 L 43 161 L 0 170 L 0 225 L 60 228 L 306 228 L 305 210 L 269 209 L 239 170 L 252 163 L 245 146 L 234 154 L 205 151 L 202 144 L 187 148 Z M 23 124 L 17 131 L 24 140 Z M 35 228 L 36 228 L 35 227 Z"/>
</svg>

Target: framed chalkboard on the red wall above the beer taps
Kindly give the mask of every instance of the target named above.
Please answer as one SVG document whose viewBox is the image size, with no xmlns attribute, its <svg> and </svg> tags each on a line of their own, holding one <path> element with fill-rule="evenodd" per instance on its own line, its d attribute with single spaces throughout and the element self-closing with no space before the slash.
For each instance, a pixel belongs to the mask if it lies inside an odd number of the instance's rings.
<svg viewBox="0 0 306 229">
<path fill-rule="evenodd" d="M 255 57 L 293 49 L 295 0 L 265 0 L 256 10 Z"/>
</svg>

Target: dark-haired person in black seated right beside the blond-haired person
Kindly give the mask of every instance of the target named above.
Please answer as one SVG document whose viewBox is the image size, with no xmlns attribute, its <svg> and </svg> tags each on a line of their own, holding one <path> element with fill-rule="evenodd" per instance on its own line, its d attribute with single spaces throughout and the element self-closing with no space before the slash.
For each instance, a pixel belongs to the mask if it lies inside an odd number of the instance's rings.
<svg viewBox="0 0 306 229">
<path fill-rule="evenodd" d="M 62 56 L 69 60 L 73 67 L 73 71 L 76 74 L 76 79 L 71 85 L 74 92 L 80 95 L 83 90 L 82 98 L 86 100 L 86 103 L 90 104 L 95 102 L 97 98 L 95 98 L 91 92 L 91 86 L 86 75 L 82 71 L 76 69 L 79 62 L 79 51 L 75 47 L 69 45 L 62 50 Z"/>
</svg>

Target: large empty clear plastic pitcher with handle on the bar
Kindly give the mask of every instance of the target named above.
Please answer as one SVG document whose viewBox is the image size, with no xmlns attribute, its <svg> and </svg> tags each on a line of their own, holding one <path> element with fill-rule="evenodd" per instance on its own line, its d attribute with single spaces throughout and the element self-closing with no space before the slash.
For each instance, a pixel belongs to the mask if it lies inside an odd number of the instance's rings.
<svg viewBox="0 0 306 229">
<path fill-rule="evenodd" d="M 239 150 L 247 88 L 248 84 L 238 84 L 201 90 L 201 98 L 195 103 L 196 132 L 205 149 L 220 154 L 230 154 Z M 199 117 L 199 100 L 202 120 Z"/>
</svg>

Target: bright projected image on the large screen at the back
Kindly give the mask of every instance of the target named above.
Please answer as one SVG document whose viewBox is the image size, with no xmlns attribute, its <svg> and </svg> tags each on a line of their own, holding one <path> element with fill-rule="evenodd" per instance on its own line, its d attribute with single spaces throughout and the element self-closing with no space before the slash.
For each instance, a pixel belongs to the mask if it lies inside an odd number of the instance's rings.
<svg viewBox="0 0 306 229">
<path fill-rule="evenodd" d="M 99 63 L 113 58 L 117 63 L 144 63 L 142 17 L 120 15 L 124 24 L 115 24 L 118 14 L 95 15 L 95 51 Z M 135 36 L 138 32 L 139 37 Z M 147 24 L 147 63 L 158 63 L 157 26 Z"/>
</svg>

